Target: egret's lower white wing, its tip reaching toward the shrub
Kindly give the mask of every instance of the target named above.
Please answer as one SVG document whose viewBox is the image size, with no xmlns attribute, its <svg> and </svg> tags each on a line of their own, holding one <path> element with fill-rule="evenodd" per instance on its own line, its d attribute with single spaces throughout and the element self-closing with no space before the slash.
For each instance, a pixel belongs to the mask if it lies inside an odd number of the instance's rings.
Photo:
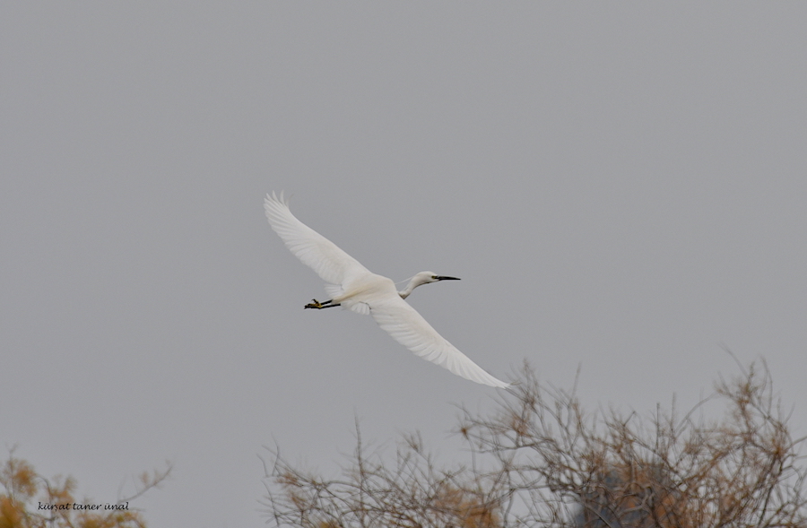
<svg viewBox="0 0 807 528">
<path fill-rule="evenodd" d="M 395 341 L 421 358 L 429 359 L 457 376 L 476 383 L 501 388 L 510 385 L 490 376 L 468 356 L 458 351 L 404 299 L 388 297 L 375 303 L 370 306 L 370 315 Z"/>
</svg>

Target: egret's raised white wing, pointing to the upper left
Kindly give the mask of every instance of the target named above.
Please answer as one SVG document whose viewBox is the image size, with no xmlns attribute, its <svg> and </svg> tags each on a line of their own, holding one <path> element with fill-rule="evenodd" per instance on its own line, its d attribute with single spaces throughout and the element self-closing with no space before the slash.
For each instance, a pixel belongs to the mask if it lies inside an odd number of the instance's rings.
<svg viewBox="0 0 807 528">
<path fill-rule="evenodd" d="M 358 260 L 297 220 L 291 214 L 282 193 L 280 197 L 274 193 L 266 195 L 264 209 L 269 224 L 280 235 L 286 247 L 324 281 L 342 284 L 349 277 L 370 273 Z"/>
</svg>

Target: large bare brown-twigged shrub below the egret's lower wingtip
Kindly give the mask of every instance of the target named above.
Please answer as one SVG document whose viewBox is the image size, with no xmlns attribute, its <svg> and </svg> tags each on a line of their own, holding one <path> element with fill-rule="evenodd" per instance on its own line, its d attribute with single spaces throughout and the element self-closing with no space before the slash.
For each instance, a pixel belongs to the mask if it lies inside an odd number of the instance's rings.
<svg viewBox="0 0 807 528">
<path fill-rule="evenodd" d="M 721 420 L 695 420 L 722 402 Z M 274 450 L 265 506 L 277 526 L 807 527 L 807 471 L 765 364 L 719 380 L 683 417 L 586 412 L 575 390 L 538 383 L 528 365 L 489 417 L 463 410 L 470 461 L 438 469 L 421 438 L 394 462 L 361 437 L 339 479 L 325 480 Z"/>
</svg>

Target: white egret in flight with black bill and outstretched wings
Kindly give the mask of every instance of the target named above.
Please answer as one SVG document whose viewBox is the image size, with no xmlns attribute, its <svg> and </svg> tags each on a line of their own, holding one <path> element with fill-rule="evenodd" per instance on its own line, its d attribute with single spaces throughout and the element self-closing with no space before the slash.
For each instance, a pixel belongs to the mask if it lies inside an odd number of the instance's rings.
<svg viewBox="0 0 807 528">
<path fill-rule="evenodd" d="M 322 309 L 342 306 L 365 316 L 373 316 L 376 323 L 395 341 L 421 358 L 476 383 L 502 388 L 509 386 L 490 376 L 447 342 L 404 300 L 421 284 L 457 281 L 456 277 L 421 272 L 412 277 L 404 290 L 397 291 L 392 279 L 370 272 L 333 242 L 297 220 L 282 193 L 280 197 L 274 193 L 266 195 L 264 208 L 269 224 L 291 253 L 327 283 L 325 291 L 331 299 L 324 302 L 313 299 L 305 307 Z"/>
</svg>

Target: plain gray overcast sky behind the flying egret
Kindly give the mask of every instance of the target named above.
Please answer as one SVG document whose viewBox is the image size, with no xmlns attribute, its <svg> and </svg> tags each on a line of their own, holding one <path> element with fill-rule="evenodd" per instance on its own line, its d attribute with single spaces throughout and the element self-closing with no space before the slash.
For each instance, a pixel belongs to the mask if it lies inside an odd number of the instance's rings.
<svg viewBox="0 0 807 528">
<path fill-rule="evenodd" d="M 263 524 L 256 454 L 334 471 L 494 389 L 321 281 L 267 191 L 497 377 L 687 408 L 763 356 L 807 433 L 807 3 L 7 2 L 0 441 L 152 526 Z M 788 407 L 789 408 L 789 407 Z M 131 490 L 131 482 L 127 488 Z"/>
</svg>

